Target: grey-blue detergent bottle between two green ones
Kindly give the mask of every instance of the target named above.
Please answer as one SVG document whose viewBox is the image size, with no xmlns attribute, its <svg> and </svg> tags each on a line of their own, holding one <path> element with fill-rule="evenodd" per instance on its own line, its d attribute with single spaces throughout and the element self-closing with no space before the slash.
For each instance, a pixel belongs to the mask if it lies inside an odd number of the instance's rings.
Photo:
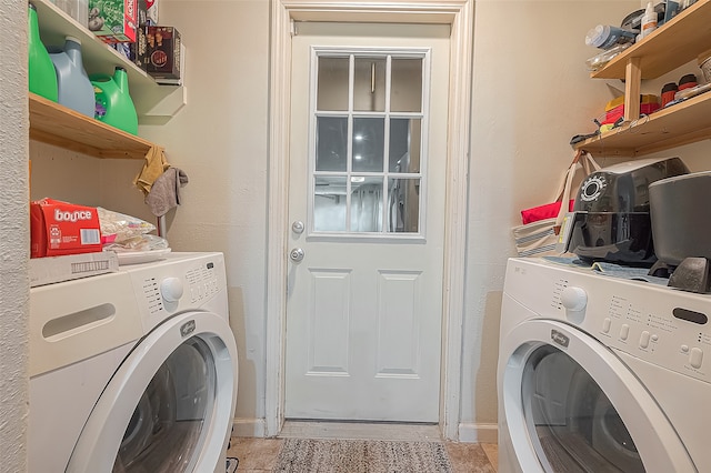
<svg viewBox="0 0 711 473">
<path fill-rule="evenodd" d="M 50 49 L 49 57 L 57 70 L 59 103 L 93 118 L 93 85 L 81 61 L 81 41 L 67 37 L 63 50 Z"/>
</svg>

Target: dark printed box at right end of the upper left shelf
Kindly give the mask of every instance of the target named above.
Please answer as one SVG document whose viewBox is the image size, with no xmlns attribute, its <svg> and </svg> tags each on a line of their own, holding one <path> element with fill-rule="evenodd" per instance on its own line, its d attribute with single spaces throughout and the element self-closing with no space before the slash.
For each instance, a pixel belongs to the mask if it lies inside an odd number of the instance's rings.
<svg viewBox="0 0 711 473">
<path fill-rule="evenodd" d="M 153 78 L 180 79 L 180 32 L 173 27 L 146 27 L 147 71 Z"/>
</svg>

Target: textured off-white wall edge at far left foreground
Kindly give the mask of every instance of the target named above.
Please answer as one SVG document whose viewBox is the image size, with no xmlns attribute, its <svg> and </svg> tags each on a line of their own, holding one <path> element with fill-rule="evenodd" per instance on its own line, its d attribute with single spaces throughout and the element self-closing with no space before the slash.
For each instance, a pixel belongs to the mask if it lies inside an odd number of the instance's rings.
<svg viewBox="0 0 711 473">
<path fill-rule="evenodd" d="M 0 470 L 23 472 L 30 294 L 24 0 L 0 3 Z"/>
</svg>

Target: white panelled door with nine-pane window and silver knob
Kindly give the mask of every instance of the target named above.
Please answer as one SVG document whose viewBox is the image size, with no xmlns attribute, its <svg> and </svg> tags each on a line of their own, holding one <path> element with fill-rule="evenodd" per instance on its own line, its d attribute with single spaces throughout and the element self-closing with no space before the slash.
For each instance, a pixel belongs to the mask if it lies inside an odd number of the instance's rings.
<svg viewBox="0 0 711 473">
<path fill-rule="evenodd" d="M 439 420 L 449 36 L 297 23 L 288 419 Z"/>
</svg>

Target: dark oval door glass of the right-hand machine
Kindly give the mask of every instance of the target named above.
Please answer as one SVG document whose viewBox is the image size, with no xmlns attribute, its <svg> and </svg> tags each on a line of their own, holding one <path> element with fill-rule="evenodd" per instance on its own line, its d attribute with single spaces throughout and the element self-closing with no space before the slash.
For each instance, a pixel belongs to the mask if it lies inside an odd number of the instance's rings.
<svg viewBox="0 0 711 473">
<path fill-rule="evenodd" d="M 627 426 L 590 374 L 543 345 L 523 370 L 523 410 L 537 455 L 551 472 L 644 472 Z"/>
</svg>

